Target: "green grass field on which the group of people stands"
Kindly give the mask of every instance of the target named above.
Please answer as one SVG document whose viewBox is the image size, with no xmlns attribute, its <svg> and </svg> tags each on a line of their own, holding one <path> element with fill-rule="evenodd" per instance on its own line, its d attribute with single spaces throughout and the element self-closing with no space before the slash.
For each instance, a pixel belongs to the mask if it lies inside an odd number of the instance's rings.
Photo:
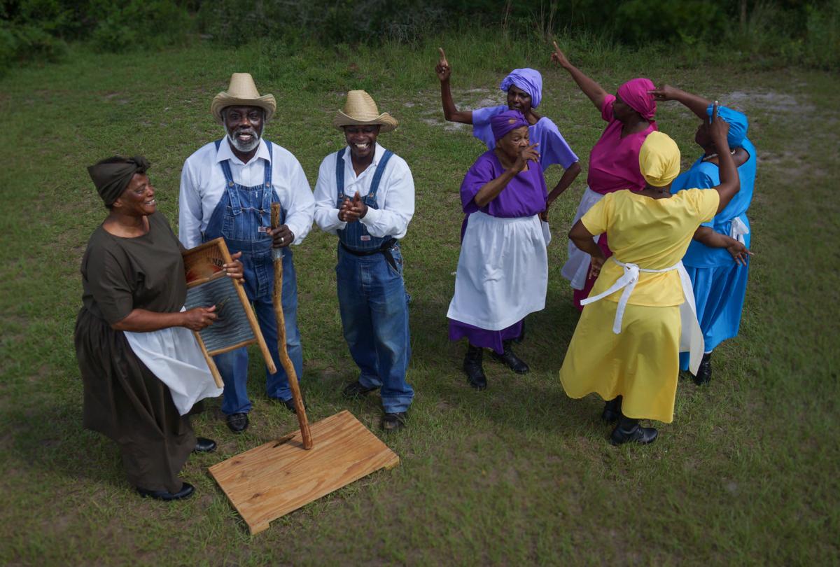
<svg viewBox="0 0 840 567">
<path fill-rule="evenodd" d="M 501 102 L 512 67 L 543 71 L 543 114 L 581 165 L 600 116 L 549 50 L 533 43 L 442 40 L 460 108 Z M 525 376 L 486 362 L 485 392 L 467 386 L 464 344 L 445 313 L 458 259 L 459 183 L 480 154 L 470 130 L 444 123 L 421 48 L 292 51 L 193 45 L 155 54 L 76 50 L 60 66 L 0 81 L 0 563 L 2 564 L 837 564 L 840 533 L 837 179 L 840 80 L 795 68 L 755 70 L 676 60 L 667 52 L 570 49 L 613 91 L 650 76 L 748 113 L 759 151 L 750 218 L 753 264 L 742 332 L 716 351 L 711 386 L 680 380 L 675 421 L 649 447 L 613 448 L 601 402 L 557 380 L 577 314 L 559 276 L 582 174 L 552 209 L 549 295 L 517 350 Z M 586 49 L 584 49 L 586 48 Z M 81 428 L 72 335 L 79 265 L 105 210 L 85 167 L 142 153 L 160 209 L 177 220 L 181 165 L 221 137 L 208 111 L 233 71 L 255 74 L 279 102 L 266 137 L 297 155 L 314 185 L 343 137 L 330 126 L 349 88 L 365 88 L 401 126 L 382 144 L 417 185 L 404 240 L 417 391 L 410 427 L 385 436 L 401 464 L 274 522 L 254 538 L 207 474 L 222 459 L 297 428 L 251 367 L 251 428 L 234 437 L 218 401 L 193 420 L 215 454 L 182 476 L 197 495 L 139 499 L 113 442 Z M 696 159 L 696 118 L 660 104 L 659 128 Z M 559 171 L 549 170 L 549 185 Z M 379 399 L 347 402 L 354 366 L 341 337 L 334 237 L 317 228 L 295 250 L 312 421 L 349 409 L 377 434 Z M 833 346 L 832 346 L 833 345 Z M 256 357 L 255 357 L 256 358 Z"/>
</svg>

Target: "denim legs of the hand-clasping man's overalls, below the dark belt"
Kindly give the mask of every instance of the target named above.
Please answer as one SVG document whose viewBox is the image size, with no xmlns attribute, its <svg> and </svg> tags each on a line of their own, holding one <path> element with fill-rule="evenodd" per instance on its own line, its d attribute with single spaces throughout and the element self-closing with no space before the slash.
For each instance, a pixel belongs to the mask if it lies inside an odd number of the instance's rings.
<svg viewBox="0 0 840 567">
<path fill-rule="evenodd" d="M 391 248 L 396 270 L 384 255 L 351 255 L 339 246 L 335 268 L 344 339 L 366 388 L 381 388 L 387 413 L 405 412 L 414 390 L 406 382 L 411 358 L 408 305 L 399 245 Z"/>
</svg>

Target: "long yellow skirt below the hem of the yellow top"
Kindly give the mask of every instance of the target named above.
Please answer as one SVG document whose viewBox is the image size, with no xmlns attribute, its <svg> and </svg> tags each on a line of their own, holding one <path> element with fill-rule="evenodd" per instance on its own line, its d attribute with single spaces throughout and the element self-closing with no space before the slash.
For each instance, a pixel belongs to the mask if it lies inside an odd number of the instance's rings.
<svg viewBox="0 0 840 567">
<path fill-rule="evenodd" d="M 616 334 L 617 307 L 607 299 L 584 307 L 560 382 L 570 397 L 623 396 L 625 416 L 671 423 L 680 373 L 680 307 L 627 305 Z"/>
</svg>

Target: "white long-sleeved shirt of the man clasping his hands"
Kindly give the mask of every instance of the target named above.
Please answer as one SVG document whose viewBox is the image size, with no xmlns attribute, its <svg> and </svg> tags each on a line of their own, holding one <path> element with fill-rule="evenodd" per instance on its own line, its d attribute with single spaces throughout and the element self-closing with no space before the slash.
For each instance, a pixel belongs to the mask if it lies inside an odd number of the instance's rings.
<svg viewBox="0 0 840 567">
<path fill-rule="evenodd" d="M 385 148 L 376 144 L 373 163 L 368 165 L 359 176 L 353 169 L 349 146 L 344 149 L 344 194 L 353 197 L 359 192 L 365 197 L 370 192 L 370 183 L 379 165 L 379 160 L 385 154 Z M 339 188 L 335 180 L 335 153 L 324 158 L 318 169 L 318 181 L 315 184 L 315 222 L 324 232 L 338 234 L 347 223 L 339 221 L 339 208 L 336 207 Z M 391 155 L 385 173 L 379 182 L 376 192 L 375 209 L 368 207 L 365 217 L 360 219 L 365 224 L 368 233 L 376 238 L 393 236 L 402 239 L 406 235 L 408 223 L 414 216 L 414 179 L 412 171 L 408 169 L 406 160 L 399 155 Z"/>
</svg>

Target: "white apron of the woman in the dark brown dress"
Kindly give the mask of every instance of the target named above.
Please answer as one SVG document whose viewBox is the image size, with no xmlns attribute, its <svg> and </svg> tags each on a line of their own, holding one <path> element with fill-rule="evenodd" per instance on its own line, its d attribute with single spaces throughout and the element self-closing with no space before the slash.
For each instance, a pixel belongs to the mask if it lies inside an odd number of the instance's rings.
<svg viewBox="0 0 840 567">
<path fill-rule="evenodd" d="M 172 402 L 181 415 L 186 415 L 199 400 L 222 395 L 190 329 L 171 327 L 150 333 L 123 333 L 137 358 L 169 387 Z"/>
</svg>

